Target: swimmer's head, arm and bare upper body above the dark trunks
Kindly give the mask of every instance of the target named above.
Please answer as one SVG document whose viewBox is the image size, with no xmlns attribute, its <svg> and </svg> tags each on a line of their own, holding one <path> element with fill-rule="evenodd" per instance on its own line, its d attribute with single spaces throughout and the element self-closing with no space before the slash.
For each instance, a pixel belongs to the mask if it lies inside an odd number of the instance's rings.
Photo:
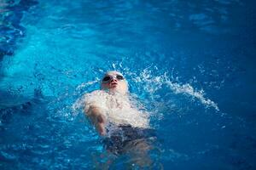
<svg viewBox="0 0 256 170">
<path fill-rule="evenodd" d="M 85 95 L 84 112 L 98 132 L 106 135 L 106 123 L 148 127 L 148 117 L 131 105 L 128 83 L 118 71 L 108 71 L 102 78 L 101 90 Z"/>
</svg>

